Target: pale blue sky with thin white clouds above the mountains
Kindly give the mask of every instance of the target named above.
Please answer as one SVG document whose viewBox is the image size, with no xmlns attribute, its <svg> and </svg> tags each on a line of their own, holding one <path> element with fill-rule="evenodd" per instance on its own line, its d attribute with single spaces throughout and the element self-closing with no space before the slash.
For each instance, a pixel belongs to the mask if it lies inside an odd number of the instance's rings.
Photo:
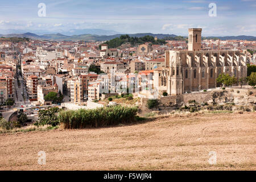
<svg viewBox="0 0 256 182">
<path fill-rule="evenodd" d="M 129 34 L 151 32 L 185 36 L 188 28 L 203 28 L 203 36 L 256 36 L 256 0 L 0 2 L 0 33 L 10 29 L 35 32 L 100 28 Z M 39 3 L 46 5 L 45 16 Z M 210 3 L 216 5 L 216 11 L 212 11 Z"/>
</svg>

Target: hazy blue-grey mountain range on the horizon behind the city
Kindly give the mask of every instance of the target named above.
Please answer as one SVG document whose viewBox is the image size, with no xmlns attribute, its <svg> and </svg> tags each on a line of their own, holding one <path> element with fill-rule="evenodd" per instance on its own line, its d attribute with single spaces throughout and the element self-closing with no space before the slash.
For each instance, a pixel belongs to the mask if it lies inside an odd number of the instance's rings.
<svg viewBox="0 0 256 182">
<path fill-rule="evenodd" d="M 102 30 L 104 31 L 104 30 Z M 10 38 L 10 37 L 18 37 L 18 38 L 30 38 L 30 39 L 38 39 L 38 40 L 67 40 L 67 41 L 77 41 L 77 40 L 84 40 L 84 41 L 106 41 L 111 40 L 114 38 L 118 38 L 121 35 L 125 34 L 115 34 L 115 35 L 96 35 L 96 34 L 79 34 L 79 35 L 63 35 L 63 34 L 43 34 L 37 35 L 27 32 L 25 34 L 0 34 L 1 37 Z M 141 34 L 128 34 L 131 37 L 138 37 L 141 38 L 146 35 L 156 36 L 158 39 L 163 39 L 166 37 L 176 37 L 177 35 L 174 34 L 151 34 L 151 33 L 141 33 Z M 255 36 L 208 36 L 207 39 L 210 38 L 218 38 L 221 40 L 256 40 Z"/>
</svg>

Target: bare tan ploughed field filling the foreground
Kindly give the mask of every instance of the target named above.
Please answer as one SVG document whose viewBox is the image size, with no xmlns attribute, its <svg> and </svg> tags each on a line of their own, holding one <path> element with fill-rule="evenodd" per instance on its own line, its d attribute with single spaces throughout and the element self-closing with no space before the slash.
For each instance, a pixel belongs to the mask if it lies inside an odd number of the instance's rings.
<svg viewBox="0 0 256 182">
<path fill-rule="evenodd" d="M 256 113 L 170 117 L 130 126 L 0 135 L 1 170 L 256 169 Z M 38 152 L 46 164 L 38 164 Z M 217 154 L 210 165 L 209 152 Z"/>
</svg>

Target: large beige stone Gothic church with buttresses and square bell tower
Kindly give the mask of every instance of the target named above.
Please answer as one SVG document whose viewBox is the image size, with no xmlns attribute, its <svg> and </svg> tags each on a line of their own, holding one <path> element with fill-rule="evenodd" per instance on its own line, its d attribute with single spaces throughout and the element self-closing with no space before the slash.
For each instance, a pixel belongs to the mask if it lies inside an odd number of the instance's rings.
<svg viewBox="0 0 256 182">
<path fill-rule="evenodd" d="M 247 76 L 245 51 L 201 51 L 201 28 L 189 28 L 188 51 L 166 51 L 165 66 L 154 70 L 154 86 L 176 96 L 219 86 L 216 78 L 228 73 Z"/>
</svg>

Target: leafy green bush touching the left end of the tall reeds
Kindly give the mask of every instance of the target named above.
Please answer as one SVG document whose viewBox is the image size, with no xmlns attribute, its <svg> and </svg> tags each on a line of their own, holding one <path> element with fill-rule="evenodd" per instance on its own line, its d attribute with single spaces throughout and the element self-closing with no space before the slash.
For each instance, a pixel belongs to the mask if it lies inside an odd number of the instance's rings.
<svg viewBox="0 0 256 182">
<path fill-rule="evenodd" d="M 48 109 L 48 110 L 39 110 L 38 121 L 36 121 L 34 125 L 35 126 L 59 125 L 59 121 L 57 119 L 57 113 L 59 113 L 59 111 L 60 109 L 58 107 L 52 107 L 51 109 Z"/>
</svg>

